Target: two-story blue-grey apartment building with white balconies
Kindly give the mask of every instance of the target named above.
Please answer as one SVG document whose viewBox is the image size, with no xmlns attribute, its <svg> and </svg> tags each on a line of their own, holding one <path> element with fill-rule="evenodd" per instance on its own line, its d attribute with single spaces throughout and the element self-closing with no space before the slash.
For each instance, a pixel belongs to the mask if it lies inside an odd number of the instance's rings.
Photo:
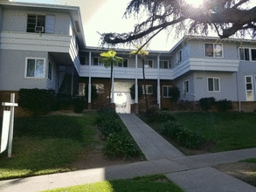
<svg viewBox="0 0 256 192">
<path fill-rule="evenodd" d="M 130 113 L 132 106 L 143 108 L 141 56 L 130 55 L 132 50 L 115 50 L 123 62 L 114 66 L 110 79 L 110 68 L 100 63 L 102 51 L 107 50 L 86 46 L 79 7 L 0 3 L 2 95 L 20 88 L 54 89 L 72 96 L 87 95 L 89 107 L 99 108 L 107 105 L 111 89 L 117 112 Z M 170 51 L 149 51 L 144 66 L 146 90 L 142 92 L 149 106 L 170 109 L 173 86 L 181 93 L 179 101 L 205 97 L 255 101 L 253 40 L 186 36 Z M 97 99 L 91 97 L 92 85 Z"/>
</svg>

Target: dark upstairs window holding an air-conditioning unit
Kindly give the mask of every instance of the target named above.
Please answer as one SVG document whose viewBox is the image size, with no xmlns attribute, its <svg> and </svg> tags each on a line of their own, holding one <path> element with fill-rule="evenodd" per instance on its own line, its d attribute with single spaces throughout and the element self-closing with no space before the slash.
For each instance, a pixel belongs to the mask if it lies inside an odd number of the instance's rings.
<svg viewBox="0 0 256 192">
<path fill-rule="evenodd" d="M 27 18 L 27 32 L 45 32 L 45 16 L 29 14 Z"/>
</svg>

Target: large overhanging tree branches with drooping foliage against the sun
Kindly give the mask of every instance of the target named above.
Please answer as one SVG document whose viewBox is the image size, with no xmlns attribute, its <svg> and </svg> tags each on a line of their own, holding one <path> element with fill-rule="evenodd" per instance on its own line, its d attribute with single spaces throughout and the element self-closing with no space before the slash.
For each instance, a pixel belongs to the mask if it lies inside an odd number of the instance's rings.
<svg viewBox="0 0 256 192">
<path fill-rule="evenodd" d="M 195 0 L 197 1 L 197 0 Z M 146 43 L 167 28 L 185 30 L 189 34 L 207 35 L 215 31 L 219 38 L 229 38 L 249 32 L 256 37 L 256 6 L 249 7 L 254 0 L 204 0 L 193 7 L 189 0 L 131 0 L 124 16 L 148 16 L 133 32 L 103 33 L 103 44 L 130 43 L 146 38 Z"/>
</svg>

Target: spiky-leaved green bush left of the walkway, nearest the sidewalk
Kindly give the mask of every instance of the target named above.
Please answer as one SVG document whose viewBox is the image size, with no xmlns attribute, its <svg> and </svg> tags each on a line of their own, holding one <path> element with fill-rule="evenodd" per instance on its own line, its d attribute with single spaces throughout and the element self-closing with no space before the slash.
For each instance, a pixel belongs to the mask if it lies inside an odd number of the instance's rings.
<svg viewBox="0 0 256 192">
<path fill-rule="evenodd" d="M 113 159 L 116 157 L 131 158 L 140 154 L 135 141 L 126 134 L 109 134 L 102 150 L 104 154 Z"/>
</svg>

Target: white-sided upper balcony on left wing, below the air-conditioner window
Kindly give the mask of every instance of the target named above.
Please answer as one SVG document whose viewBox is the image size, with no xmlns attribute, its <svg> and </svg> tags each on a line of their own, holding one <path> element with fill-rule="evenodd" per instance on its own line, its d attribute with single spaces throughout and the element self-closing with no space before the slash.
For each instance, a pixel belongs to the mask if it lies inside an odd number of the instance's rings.
<svg viewBox="0 0 256 192">
<path fill-rule="evenodd" d="M 69 35 L 0 31 L 0 49 L 46 51 L 58 65 L 74 65 L 77 70 L 80 65 L 79 47 Z"/>
</svg>

